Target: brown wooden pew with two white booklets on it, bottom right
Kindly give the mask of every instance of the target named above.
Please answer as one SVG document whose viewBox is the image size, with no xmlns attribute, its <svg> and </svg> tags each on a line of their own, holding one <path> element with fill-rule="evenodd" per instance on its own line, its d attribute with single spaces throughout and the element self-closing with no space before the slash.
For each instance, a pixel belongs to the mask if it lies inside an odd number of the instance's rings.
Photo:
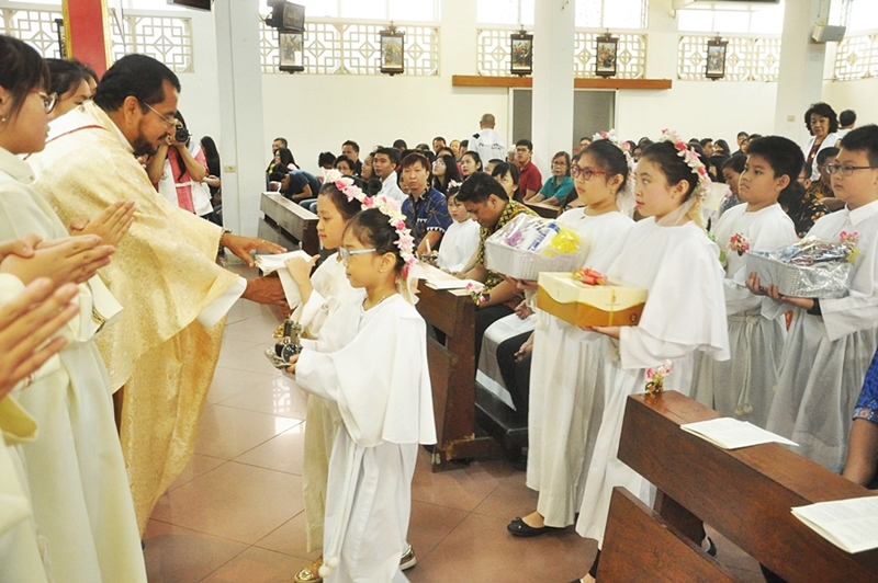
<svg viewBox="0 0 878 583">
<path fill-rule="evenodd" d="M 779 444 L 725 450 L 679 428 L 683 423 L 718 416 L 674 391 L 629 398 L 619 459 L 655 484 L 657 514 L 694 546 L 700 544 L 703 521 L 790 583 L 876 581 L 878 549 L 847 553 L 790 513 L 793 506 L 875 492 Z M 618 512 L 617 506 L 610 507 L 611 515 Z M 608 548 L 616 545 L 610 534 L 608 530 L 605 537 Z M 626 561 L 663 552 L 646 538 L 641 542 L 639 548 L 627 547 Z M 601 576 L 605 569 L 615 572 L 616 562 L 612 556 L 606 561 L 601 556 L 598 581 L 621 581 Z M 683 581 L 691 565 L 663 562 L 661 568 L 678 575 L 673 580 Z"/>
</svg>

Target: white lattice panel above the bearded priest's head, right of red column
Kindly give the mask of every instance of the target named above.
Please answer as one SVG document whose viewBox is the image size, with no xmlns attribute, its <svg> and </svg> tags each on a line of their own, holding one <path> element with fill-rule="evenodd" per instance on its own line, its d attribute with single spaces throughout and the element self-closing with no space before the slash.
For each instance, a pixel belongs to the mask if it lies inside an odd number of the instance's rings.
<svg viewBox="0 0 878 583">
<path fill-rule="evenodd" d="M 175 72 L 194 72 L 191 19 L 125 14 L 120 19 L 122 34 L 116 20 L 111 20 L 113 60 L 139 53 L 160 60 Z"/>
</svg>

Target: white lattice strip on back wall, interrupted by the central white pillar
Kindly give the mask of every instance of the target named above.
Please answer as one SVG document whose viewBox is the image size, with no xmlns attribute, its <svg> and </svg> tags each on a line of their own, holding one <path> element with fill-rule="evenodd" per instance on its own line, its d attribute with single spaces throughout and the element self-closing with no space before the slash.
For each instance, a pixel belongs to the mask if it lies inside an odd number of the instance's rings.
<svg viewBox="0 0 878 583">
<path fill-rule="evenodd" d="M 479 75 L 484 77 L 508 77 L 509 35 L 516 28 L 480 28 L 476 31 L 476 64 Z M 528 31 L 531 32 L 532 31 Z M 573 75 L 592 78 L 595 75 L 596 38 L 604 33 L 576 31 L 573 52 Z M 620 79 L 641 79 L 646 72 L 646 35 L 621 33 L 619 37 L 618 73 Z M 539 50 L 534 39 L 534 50 Z M 537 57 L 539 58 L 539 57 Z"/>
</svg>

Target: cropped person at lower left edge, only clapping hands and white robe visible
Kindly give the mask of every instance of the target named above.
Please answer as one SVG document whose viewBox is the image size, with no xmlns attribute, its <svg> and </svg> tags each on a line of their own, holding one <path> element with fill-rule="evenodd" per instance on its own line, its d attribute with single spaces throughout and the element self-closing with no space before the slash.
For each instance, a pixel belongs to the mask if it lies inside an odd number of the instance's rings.
<svg viewBox="0 0 878 583">
<path fill-rule="evenodd" d="M 26 250 L 23 256 L 33 255 L 30 244 L 19 240 L 0 244 L 0 261 L 15 248 Z M 15 276 L 0 274 L 0 289 L 19 286 Z M 46 583 L 50 576 L 40 552 L 27 479 L 15 447 L 36 438 L 37 426 L 9 392 L 20 382 L 32 382 L 25 379 L 37 369 L 57 368 L 54 355 L 67 339 L 50 336 L 79 313 L 71 304 L 76 295 L 75 284 L 56 289 L 42 277 L 0 300 L 0 581 L 4 583 Z M 49 359 L 53 365 L 41 368 Z"/>
</svg>

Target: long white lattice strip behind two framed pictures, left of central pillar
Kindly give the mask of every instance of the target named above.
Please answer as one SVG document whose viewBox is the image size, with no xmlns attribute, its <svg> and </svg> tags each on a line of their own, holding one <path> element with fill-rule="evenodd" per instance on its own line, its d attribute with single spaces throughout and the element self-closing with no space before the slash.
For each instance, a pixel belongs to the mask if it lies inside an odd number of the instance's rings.
<svg viewBox="0 0 878 583">
<path fill-rule="evenodd" d="M 262 72 L 280 73 L 278 31 L 260 24 Z M 306 73 L 381 75 L 379 24 L 340 22 L 305 23 Z M 439 75 L 439 28 L 435 26 L 397 26 L 405 32 L 405 73 L 418 77 Z"/>
</svg>

